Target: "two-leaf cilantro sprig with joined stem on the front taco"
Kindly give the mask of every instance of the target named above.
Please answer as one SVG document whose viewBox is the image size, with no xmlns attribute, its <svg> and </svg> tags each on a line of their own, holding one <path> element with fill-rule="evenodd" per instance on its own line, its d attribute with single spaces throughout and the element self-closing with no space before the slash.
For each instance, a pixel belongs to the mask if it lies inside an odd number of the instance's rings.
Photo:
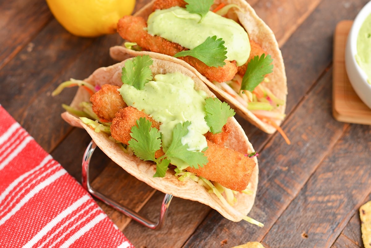
<svg viewBox="0 0 371 248">
<path fill-rule="evenodd" d="M 187 135 L 189 121 L 178 123 L 173 129 L 173 141 L 166 153 L 155 158 L 155 152 L 161 148 L 161 134 L 157 128 L 152 128 L 152 123 L 145 118 L 139 118 L 137 125 L 131 128 L 129 147 L 134 154 L 142 160 L 154 161 L 156 173 L 153 177 L 164 177 L 166 170 L 171 163 L 171 158 L 177 158 L 189 166 L 198 169 L 208 162 L 207 157 L 202 152 L 188 151 L 188 145 L 181 143 L 181 138 Z"/>
</svg>

